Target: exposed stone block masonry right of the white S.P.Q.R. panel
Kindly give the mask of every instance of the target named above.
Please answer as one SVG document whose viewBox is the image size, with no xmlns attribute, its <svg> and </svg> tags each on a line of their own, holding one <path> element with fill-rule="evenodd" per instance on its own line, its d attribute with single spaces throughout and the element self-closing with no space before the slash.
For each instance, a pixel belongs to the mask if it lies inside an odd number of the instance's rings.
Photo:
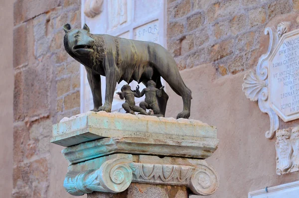
<svg viewBox="0 0 299 198">
<path fill-rule="evenodd" d="M 168 0 L 167 47 L 180 70 L 212 63 L 218 76 L 237 74 L 256 66 L 266 24 L 292 11 L 299 0 Z"/>
</svg>

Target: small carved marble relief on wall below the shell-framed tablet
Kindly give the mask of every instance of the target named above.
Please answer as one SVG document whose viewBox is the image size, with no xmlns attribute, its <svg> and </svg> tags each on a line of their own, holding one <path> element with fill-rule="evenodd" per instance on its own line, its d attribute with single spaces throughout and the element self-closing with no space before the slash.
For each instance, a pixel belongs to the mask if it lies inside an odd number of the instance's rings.
<svg viewBox="0 0 299 198">
<path fill-rule="evenodd" d="M 299 126 L 276 131 L 276 173 L 299 171 Z"/>
</svg>

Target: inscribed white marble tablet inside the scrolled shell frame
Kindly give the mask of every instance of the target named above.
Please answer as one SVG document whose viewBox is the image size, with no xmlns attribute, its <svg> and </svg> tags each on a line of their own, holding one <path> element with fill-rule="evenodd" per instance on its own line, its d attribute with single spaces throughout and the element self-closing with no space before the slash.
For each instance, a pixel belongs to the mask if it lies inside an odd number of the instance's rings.
<svg viewBox="0 0 299 198">
<path fill-rule="evenodd" d="M 299 31 L 285 34 L 270 57 L 271 108 L 286 122 L 299 118 Z"/>
</svg>

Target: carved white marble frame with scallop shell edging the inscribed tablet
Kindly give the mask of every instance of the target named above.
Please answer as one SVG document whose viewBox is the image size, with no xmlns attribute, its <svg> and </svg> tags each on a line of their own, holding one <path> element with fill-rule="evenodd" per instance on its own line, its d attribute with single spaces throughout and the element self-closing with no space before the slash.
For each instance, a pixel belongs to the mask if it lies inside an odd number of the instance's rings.
<svg viewBox="0 0 299 198">
<path fill-rule="evenodd" d="M 288 32 L 290 29 L 290 22 L 282 22 L 277 29 L 274 27 L 267 27 L 264 33 L 269 34 L 269 47 L 266 54 L 263 54 L 258 62 L 256 71 L 250 71 L 244 76 L 244 83 L 242 90 L 251 101 L 258 101 L 259 108 L 262 112 L 268 113 L 270 118 L 270 130 L 265 133 L 266 138 L 272 139 L 275 132 L 279 129 L 279 117 L 277 112 L 271 106 L 269 98 L 269 65 L 273 57 L 273 52 L 279 47 L 282 38 L 289 34 L 294 34 L 296 31 Z M 297 30 L 298 31 L 298 30 Z M 282 118 L 286 120 L 285 118 Z"/>
</svg>

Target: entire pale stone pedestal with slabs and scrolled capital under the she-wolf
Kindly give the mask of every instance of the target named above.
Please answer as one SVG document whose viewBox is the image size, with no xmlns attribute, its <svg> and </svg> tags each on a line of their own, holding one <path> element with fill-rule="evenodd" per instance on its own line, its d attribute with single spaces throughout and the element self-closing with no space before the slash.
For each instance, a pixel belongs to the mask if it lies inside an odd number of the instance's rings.
<svg viewBox="0 0 299 198">
<path fill-rule="evenodd" d="M 184 198 L 219 185 L 204 160 L 216 128 L 197 120 L 90 111 L 53 125 L 51 142 L 67 146 L 64 188 L 74 196 Z"/>
</svg>

